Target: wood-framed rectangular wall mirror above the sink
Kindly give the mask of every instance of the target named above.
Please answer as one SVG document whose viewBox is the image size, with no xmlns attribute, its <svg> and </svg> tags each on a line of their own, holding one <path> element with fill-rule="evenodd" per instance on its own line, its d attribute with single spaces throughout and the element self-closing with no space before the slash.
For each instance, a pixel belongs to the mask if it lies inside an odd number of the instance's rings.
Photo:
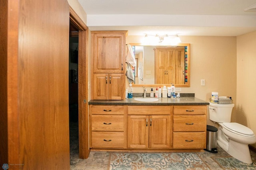
<svg viewBox="0 0 256 170">
<path fill-rule="evenodd" d="M 130 45 L 137 61 L 133 87 L 190 87 L 190 44 Z"/>
</svg>

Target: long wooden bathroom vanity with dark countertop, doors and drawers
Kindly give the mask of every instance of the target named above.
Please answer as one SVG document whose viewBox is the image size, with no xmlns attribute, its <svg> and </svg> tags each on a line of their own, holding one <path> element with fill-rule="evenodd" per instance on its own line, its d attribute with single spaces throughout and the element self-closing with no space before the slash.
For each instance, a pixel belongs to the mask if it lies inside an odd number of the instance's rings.
<svg viewBox="0 0 256 170">
<path fill-rule="evenodd" d="M 90 149 L 202 151 L 208 104 L 194 97 L 91 100 Z"/>
</svg>

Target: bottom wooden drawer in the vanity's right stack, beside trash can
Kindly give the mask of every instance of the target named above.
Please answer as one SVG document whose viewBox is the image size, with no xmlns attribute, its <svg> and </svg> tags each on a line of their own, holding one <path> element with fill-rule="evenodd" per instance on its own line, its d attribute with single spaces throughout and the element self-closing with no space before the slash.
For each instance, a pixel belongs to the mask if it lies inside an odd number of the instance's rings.
<svg viewBox="0 0 256 170">
<path fill-rule="evenodd" d="M 204 149 L 206 148 L 205 132 L 174 132 L 174 149 Z"/>
</svg>

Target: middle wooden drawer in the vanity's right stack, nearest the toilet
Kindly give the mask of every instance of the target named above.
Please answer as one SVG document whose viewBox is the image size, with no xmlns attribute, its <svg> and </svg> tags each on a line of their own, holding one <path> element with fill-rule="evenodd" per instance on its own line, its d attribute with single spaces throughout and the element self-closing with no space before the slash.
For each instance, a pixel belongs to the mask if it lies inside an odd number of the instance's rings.
<svg viewBox="0 0 256 170">
<path fill-rule="evenodd" d="M 173 131 L 206 131 L 206 115 L 174 115 Z"/>
</svg>

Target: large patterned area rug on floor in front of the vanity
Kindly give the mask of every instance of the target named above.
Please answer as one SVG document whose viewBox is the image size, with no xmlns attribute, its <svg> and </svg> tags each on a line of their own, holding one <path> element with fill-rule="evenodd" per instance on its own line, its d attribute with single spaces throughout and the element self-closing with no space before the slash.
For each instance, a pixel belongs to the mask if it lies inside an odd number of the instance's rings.
<svg viewBox="0 0 256 170">
<path fill-rule="evenodd" d="M 110 152 L 108 170 L 210 170 L 196 153 Z"/>
</svg>

